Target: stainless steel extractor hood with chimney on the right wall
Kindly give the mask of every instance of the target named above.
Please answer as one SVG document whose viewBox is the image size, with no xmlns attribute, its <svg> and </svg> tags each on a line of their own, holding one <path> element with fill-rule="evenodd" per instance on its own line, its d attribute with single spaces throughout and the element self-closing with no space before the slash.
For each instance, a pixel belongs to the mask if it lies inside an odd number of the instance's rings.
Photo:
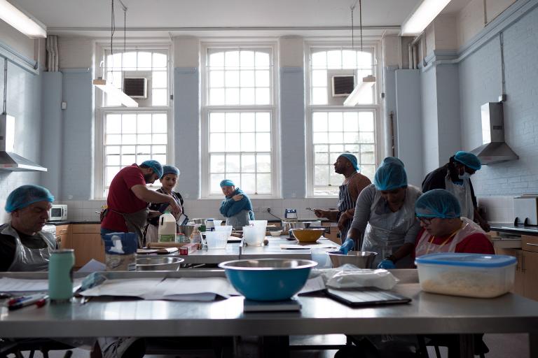
<svg viewBox="0 0 538 358">
<path fill-rule="evenodd" d="M 483 165 L 519 159 L 518 155 L 504 143 L 504 117 L 502 102 L 488 102 L 481 106 L 482 145 L 471 153 Z"/>
</svg>

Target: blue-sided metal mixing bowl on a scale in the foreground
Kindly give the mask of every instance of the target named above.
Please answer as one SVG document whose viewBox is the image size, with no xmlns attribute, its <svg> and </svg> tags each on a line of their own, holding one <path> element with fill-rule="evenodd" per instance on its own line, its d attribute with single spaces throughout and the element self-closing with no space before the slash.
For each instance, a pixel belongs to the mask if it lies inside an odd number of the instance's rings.
<svg viewBox="0 0 538 358">
<path fill-rule="evenodd" d="M 316 265 L 303 259 L 251 259 L 222 262 L 219 267 L 245 298 L 282 301 L 301 290 Z"/>
</svg>

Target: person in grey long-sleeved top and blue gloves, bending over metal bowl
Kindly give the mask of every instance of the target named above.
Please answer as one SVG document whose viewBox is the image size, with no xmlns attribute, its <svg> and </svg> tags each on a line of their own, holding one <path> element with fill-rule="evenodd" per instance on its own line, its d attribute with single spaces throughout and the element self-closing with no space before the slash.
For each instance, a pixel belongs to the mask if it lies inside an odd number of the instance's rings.
<svg viewBox="0 0 538 358">
<path fill-rule="evenodd" d="M 366 187 L 357 199 L 351 229 L 340 251 L 361 248 L 377 252 L 373 267 L 410 267 L 410 254 L 420 231 L 415 218 L 415 201 L 420 194 L 418 187 L 407 184 L 403 165 L 396 161 L 382 164 L 375 171 L 373 185 Z"/>
</svg>

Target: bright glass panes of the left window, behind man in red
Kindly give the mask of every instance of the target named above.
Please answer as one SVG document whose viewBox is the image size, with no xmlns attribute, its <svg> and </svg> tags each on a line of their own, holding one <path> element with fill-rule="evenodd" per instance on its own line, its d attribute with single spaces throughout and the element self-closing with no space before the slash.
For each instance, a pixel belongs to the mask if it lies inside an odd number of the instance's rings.
<svg viewBox="0 0 538 358">
<path fill-rule="evenodd" d="M 123 90 L 124 78 L 146 78 L 146 98 L 135 98 L 138 108 L 121 106 L 116 98 L 97 93 L 96 198 L 106 197 L 114 176 L 125 166 L 156 159 L 170 162 L 170 90 L 168 50 L 137 48 L 103 50 L 103 75 L 107 83 Z M 153 186 L 158 187 L 157 181 Z"/>
</svg>

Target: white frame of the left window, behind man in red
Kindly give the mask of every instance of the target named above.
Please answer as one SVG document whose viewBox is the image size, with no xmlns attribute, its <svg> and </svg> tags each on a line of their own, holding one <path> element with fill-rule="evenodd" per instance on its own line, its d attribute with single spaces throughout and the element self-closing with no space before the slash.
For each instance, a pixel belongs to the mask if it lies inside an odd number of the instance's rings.
<svg viewBox="0 0 538 358">
<path fill-rule="evenodd" d="M 104 59 L 104 53 L 110 48 L 110 43 L 97 43 L 96 53 L 98 56 L 95 57 L 95 73 L 94 78 L 97 76 L 104 76 L 103 69 L 100 66 L 100 62 Z M 115 48 L 119 52 L 123 52 L 123 45 L 116 45 Z M 94 96 L 95 96 L 95 174 L 94 174 L 94 199 L 95 200 L 104 200 L 104 163 L 105 163 L 105 153 L 104 153 L 104 118 L 109 113 L 167 113 L 167 162 L 161 164 L 173 164 L 174 163 L 174 113 L 172 100 L 170 96 L 174 93 L 173 84 L 173 73 L 172 71 L 172 47 L 170 43 L 127 43 L 126 49 L 129 50 L 166 50 L 168 57 L 167 64 L 167 76 L 168 76 L 168 106 L 152 106 L 152 107 L 139 107 L 139 108 L 128 108 L 123 106 L 104 106 L 104 96 L 102 95 L 102 90 L 99 90 L 97 87 L 94 87 Z M 139 164 L 139 163 L 138 163 Z M 158 183 L 158 182 L 157 182 Z M 152 185 L 149 185 L 152 187 Z M 153 185 L 157 188 L 160 185 Z"/>
</svg>

